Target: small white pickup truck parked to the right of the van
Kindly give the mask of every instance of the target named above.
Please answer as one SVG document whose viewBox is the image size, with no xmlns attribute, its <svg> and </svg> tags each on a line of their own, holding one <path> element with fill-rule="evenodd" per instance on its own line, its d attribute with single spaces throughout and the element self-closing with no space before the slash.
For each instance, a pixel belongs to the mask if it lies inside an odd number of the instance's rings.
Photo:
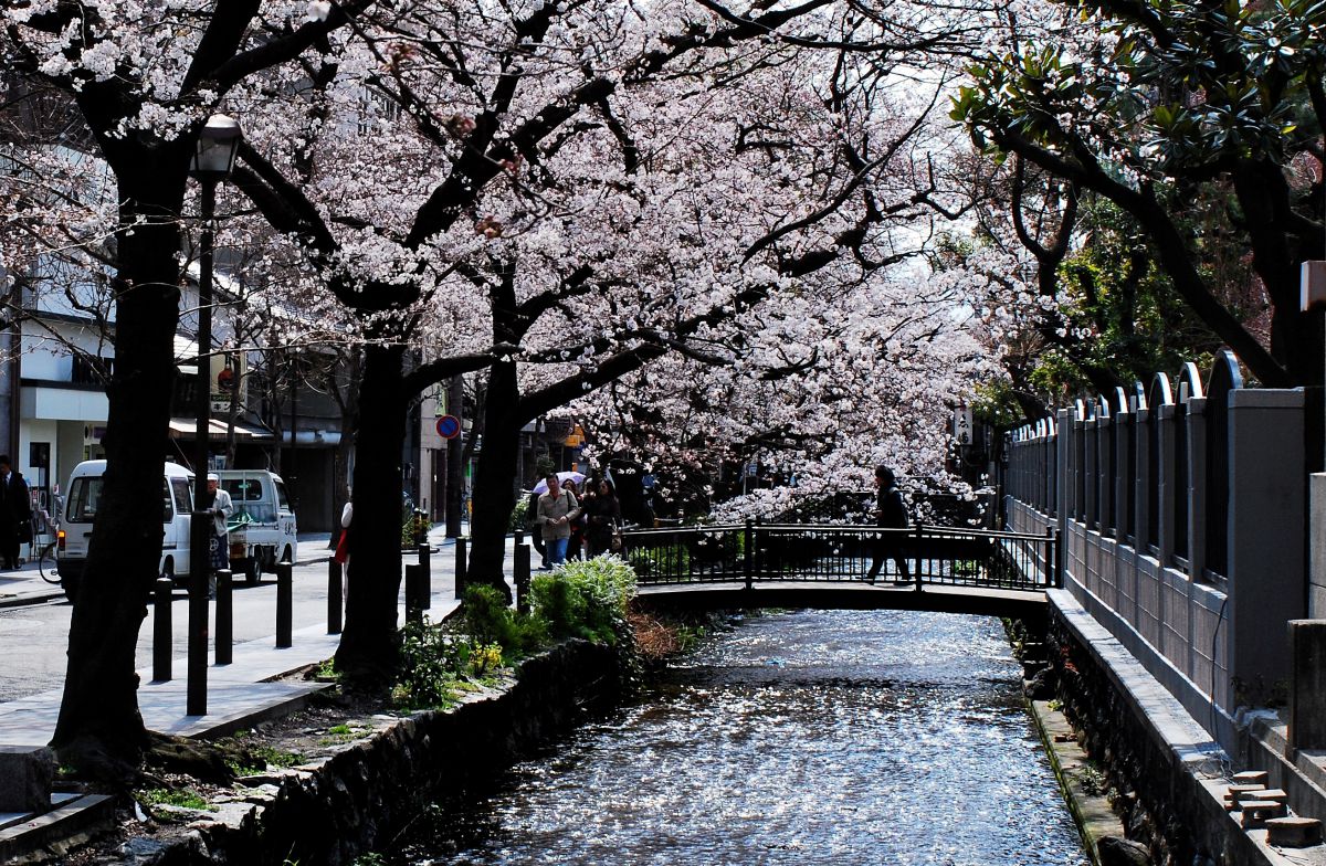
<svg viewBox="0 0 1326 866">
<path fill-rule="evenodd" d="M 294 562 L 298 542 L 285 481 L 265 469 L 220 469 L 221 489 L 231 495 L 231 570 L 256 584 L 277 562 Z"/>
</svg>

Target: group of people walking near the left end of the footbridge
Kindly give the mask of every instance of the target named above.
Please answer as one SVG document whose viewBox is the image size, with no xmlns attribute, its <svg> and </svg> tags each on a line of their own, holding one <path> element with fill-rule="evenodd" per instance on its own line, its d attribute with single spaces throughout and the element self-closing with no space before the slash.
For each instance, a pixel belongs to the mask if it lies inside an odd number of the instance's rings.
<svg viewBox="0 0 1326 866">
<path fill-rule="evenodd" d="M 594 558 L 614 552 L 614 538 L 622 528 L 622 505 L 617 488 L 607 477 L 585 479 L 585 489 L 573 477 L 544 479 L 546 493 L 532 493 L 526 517 L 534 529 L 534 549 L 544 558 L 540 566 L 549 570 L 568 558 Z M 617 542 L 619 544 L 619 541 Z"/>
</svg>

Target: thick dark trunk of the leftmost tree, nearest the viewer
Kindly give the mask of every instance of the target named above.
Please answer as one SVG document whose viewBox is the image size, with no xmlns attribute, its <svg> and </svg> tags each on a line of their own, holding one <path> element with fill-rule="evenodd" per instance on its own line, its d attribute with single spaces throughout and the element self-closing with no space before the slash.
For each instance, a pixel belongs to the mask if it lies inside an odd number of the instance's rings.
<svg viewBox="0 0 1326 866">
<path fill-rule="evenodd" d="M 107 468 L 52 739 L 62 763 L 111 781 L 135 773 L 147 745 L 134 651 L 162 549 L 162 465 L 179 321 L 178 215 L 187 156 L 141 154 L 139 163 L 150 178 L 118 178 L 122 229 L 115 371 L 103 442 Z M 127 225 L 133 231 L 123 231 Z"/>
</svg>

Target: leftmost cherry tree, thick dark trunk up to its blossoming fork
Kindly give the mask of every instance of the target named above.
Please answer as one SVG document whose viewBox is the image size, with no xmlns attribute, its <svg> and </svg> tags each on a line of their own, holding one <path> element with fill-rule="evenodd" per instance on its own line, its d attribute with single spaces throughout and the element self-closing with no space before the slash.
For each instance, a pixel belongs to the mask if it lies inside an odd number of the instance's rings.
<svg viewBox="0 0 1326 866">
<path fill-rule="evenodd" d="M 5 69 L 65 94 L 114 176 L 106 235 L 115 298 L 109 471 L 74 605 L 53 739 L 62 761 L 91 773 L 125 778 L 147 741 L 134 649 L 162 538 L 160 455 L 175 377 L 180 217 L 194 143 L 237 85 L 321 53 L 367 5 L 16 0 L 0 9 Z"/>
</svg>

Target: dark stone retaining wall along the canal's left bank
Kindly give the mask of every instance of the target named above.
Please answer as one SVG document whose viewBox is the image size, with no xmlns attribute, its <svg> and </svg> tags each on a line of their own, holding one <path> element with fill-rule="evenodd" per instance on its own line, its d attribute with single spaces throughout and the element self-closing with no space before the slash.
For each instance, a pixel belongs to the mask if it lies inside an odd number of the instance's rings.
<svg viewBox="0 0 1326 866">
<path fill-rule="evenodd" d="M 400 719 L 317 768 L 288 776 L 276 797 L 237 821 L 138 858 L 160 866 L 341 866 L 386 846 L 424 797 L 487 780 L 621 696 L 610 647 L 569 642 L 520 668 L 503 694 L 450 712 Z"/>
</svg>

